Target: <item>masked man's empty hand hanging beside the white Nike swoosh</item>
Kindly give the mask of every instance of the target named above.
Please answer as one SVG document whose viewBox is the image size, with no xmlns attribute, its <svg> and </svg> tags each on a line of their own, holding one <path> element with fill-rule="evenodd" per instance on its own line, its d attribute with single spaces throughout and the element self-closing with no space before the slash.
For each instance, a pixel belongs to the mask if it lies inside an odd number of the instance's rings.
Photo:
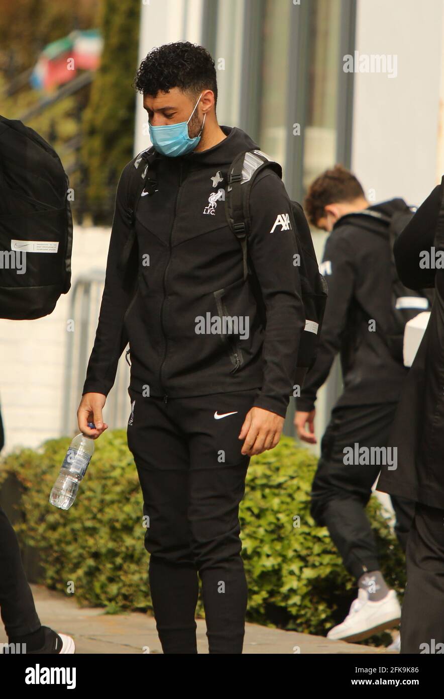
<svg viewBox="0 0 444 699">
<path fill-rule="evenodd" d="M 239 439 L 245 440 L 241 454 L 255 456 L 274 449 L 281 439 L 283 423 L 283 417 L 276 412 L 251 408 L 239 433 Z"/>
</svg>

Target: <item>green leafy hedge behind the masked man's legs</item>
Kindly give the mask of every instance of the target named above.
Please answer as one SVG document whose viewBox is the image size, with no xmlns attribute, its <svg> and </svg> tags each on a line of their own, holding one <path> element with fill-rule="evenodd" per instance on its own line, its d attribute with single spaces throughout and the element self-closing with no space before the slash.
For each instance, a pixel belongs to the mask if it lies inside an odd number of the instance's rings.
<svg viewBox="0 0 444 699">
<path fill-rule="evenodd" d="M 48 498 L 69 442 L 48 440 L 37 451 L 21 449 L 2 460 L 0 487 L 14 474 L 22 491 L 24 521 L 15 527 L 20 541 L 40 552 L 45 568 L 41 582 L 66 593 L 72 581 L 80 605 L 105 607 L 111 614 L 151 610 L 142 496 L 126 431 L 105 433 L 95 442 L 77 500 L 64 512 Z M 348 607 L 355 582 L 343 569 L 327 529 L 316 526 L 309 514 L 315 468 L 316 459 L 290 438 L 254 457 L 240 519 L 248 619 L 324 635 L 346 612 L 344 600 Z M 381 568 L 402 593 L 404 556 L 376 498 L 368 511 Z"/>
</svg>

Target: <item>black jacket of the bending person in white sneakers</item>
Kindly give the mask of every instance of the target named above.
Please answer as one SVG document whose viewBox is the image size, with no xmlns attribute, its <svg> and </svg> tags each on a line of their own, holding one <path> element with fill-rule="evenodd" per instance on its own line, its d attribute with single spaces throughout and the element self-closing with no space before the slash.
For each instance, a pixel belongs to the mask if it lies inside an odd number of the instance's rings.
<svg viewBox="0 0 444 699">
<path fill-rule="evenodd" d="M 370 211 L 387 216 L 405 208 L 402 199 L 369 206 Z M 338 352 L 343 393 L 336 405 L 374 405 L 399 399 L 408 369 L 392 357 L 384 341 L 390 331 L 390 243 L 385 224 L 372 221 L 371 226 L 374 233 L 338 219 L 327 238 L 321 264 L 328 284 L 323 329 L 316 362 L 296 399 L 297 410 L 313 410 L 318 389 L 327 380 Z M 376 321 L 376 332 L 369 331 L 369 319 Z"/>
</svg>

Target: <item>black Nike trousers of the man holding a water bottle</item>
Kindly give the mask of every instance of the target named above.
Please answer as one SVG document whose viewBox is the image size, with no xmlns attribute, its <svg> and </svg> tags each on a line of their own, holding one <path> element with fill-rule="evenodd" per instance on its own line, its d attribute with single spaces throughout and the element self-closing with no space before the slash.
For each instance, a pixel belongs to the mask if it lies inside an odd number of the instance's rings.
<svg viewBox="0 0 444 699">
<path fill-rule="evenodd" d="M 199 576 L 209 652 L 242 653 L 247 586 L 239 503 L 249 457 L 242 456 L 238 435 L 258 390 L 167 403 L 128 393 L 128 447 L 142 487 L 149 586 L 163 652 L 197 653 Z"/>
</svg>

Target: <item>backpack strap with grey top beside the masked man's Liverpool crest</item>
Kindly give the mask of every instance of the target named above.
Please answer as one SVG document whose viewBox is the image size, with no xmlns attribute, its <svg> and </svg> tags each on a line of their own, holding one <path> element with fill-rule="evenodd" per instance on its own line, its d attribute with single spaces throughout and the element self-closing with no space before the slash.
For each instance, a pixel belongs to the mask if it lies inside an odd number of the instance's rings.
<svg viewBox="0 0 444 699">
<path fill-rule="evenodd" d="M 271 168 L 282 178 L 282 168 L 261 150 L 244 150 L 228 168 L 225 187 L 225 215 L 242 250 L 244 280 L 249 275 L 247 240 L 250 232 L 249 201 L 254 178 L 264 168 Z"/>
</svg>

